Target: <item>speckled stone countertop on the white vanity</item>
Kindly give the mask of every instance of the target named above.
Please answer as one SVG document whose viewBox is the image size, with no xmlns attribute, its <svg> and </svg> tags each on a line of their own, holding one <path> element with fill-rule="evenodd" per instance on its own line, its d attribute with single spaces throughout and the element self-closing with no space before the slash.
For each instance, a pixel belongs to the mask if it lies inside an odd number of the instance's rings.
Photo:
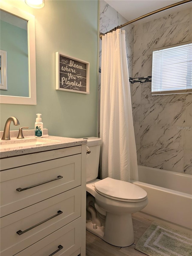
<svg viewBox="0 0 192 256">
<path fill-rule="evenodd" d="M 86 139 L 82 140 L 49 136 L 47 129 L 44 129 L 44 135 L 42 138 L 35 138 L 34 134 L 34 130 L 23 130 L 23 136 L 25 138 L 17 139 L 18 131 L 10 131 L 10 140 L 0 140 L 0 158 L 26 155 L 59 148 L 68 148 L 87 143 Z M 3 132 L 0 132 L 0 137 L 2 138 L 2 136 Z M 9 147 L 9 145 L 13 145 L 14 142 L 16 142 L 16 145 Z"/>
</svg>

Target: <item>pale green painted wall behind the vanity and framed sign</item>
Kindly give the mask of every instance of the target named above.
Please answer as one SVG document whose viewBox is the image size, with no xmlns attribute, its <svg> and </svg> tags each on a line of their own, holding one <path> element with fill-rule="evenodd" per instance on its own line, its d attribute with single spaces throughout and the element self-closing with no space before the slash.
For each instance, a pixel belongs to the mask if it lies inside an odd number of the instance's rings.
<svg viewBox="0 0 192 256">
<path fill-rule="evenodd" d="M 7 0 L 35 15 L 37 105 L 1 104 L 1 130 L 10 116 L 34 129 L 42 114 L 49 135 L 97 135 L 98 0 L 49 0 L 42 9 Z M 90 62 L 90 94 L 55 90 L 55 52 Z M 10 130 L 17 130 L 11 123 Z"/>
</svg>

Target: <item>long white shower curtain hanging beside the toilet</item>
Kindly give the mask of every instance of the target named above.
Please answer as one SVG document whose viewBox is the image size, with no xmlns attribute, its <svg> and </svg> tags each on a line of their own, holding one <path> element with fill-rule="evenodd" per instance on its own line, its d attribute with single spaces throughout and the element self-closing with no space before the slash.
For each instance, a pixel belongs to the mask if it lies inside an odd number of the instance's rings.
<svg viewBox="0 0 192 256">
<path fill-rule="evenodd" d="M 138 180 L 125 31 L 102 37 L 100 137 L 102 179 Z"/>
</svg>

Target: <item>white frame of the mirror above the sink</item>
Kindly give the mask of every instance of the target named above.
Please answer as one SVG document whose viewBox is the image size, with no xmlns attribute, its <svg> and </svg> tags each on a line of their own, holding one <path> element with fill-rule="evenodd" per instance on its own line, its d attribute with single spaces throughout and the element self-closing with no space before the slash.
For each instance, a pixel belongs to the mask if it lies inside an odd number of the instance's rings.
<svg viewBox="0 0 192 256">
<path fill-rule="evenodd" d="M 35 58 L 35 16 L 21 11 L 12 5 L 1 2 L 0 9 L 27 21 L 28 60 L 29 60 L 29 97 L 0 95 L 0 103 L 37 105 L 36 99 L 36 58 Z M 21 71 L 22 72 L 22 71 Z"/>
</svg>

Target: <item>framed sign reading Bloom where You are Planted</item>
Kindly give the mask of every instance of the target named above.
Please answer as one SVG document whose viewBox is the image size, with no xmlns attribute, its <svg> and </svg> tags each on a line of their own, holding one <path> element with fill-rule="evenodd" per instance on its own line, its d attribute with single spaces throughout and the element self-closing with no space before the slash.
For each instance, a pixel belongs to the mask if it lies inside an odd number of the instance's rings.
<svg viewBox="0 0 192 256">
<path fill-rule="evenodd" d="M 55 52 L 55 89 L 89 94 L 89 62 Z"/>
</svg>

